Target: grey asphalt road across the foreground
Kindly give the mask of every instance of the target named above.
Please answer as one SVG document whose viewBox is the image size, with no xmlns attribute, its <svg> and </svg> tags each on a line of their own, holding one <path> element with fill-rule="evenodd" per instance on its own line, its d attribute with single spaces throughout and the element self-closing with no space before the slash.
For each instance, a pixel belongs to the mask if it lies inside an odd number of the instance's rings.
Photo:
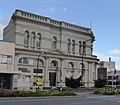
<svg viewBox="0 0 120 105">
<path fill-rule="evenodd" d="M 8 98 L 0 99 L 0 105 L 120 105 L 120 96 Z"/>
</svg>

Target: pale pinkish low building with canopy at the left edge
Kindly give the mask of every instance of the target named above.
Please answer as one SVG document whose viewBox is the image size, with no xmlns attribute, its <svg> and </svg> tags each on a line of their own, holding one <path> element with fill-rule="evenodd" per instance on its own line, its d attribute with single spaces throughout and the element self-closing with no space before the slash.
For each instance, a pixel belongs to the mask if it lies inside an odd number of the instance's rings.
<svg viewBox="0 0 120 105">
<path fill-rule="evenodd" d="M 12 89 L 13 76 L 19 74 L 14 69 L 15 44 L 0 41 L 0 89 Z"/>
</svg>

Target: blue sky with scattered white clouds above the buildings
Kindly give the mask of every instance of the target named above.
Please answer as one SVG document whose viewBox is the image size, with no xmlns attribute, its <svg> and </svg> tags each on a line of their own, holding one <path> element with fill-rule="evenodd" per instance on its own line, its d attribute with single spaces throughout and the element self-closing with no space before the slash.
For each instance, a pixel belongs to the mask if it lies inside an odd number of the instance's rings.
<svg viewBox="0 0 120 105">
<path fill-rule="evenodd" d="M 0 0 L 0 39 L 16 9 L 91 28 L 94 54 L 120 69 L 120 0 Z M 91 25 L 92 23 L 92 25 Z"/>
</svg>

